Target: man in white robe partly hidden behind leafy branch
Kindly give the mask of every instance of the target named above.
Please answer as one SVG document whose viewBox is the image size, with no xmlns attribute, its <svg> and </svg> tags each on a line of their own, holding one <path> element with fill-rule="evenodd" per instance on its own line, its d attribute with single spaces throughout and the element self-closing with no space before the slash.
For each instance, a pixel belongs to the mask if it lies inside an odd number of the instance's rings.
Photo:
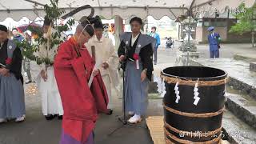
<svg viewBox="0 0 256 144">
<path fill-rule="evenodd" d="M 54 76 L 54 57 L 57 54 L 58 46 L 55 45 L 51 49 L 49 44 L 52 40 L 52 35 L 56 33 L 50 26 L 51 22 L 49 19 L 45 18 L 44 22 L 44 37 L 47 38 L 46 43 L 43 43 L 39 47 L 38 57 L 39 58 L 49 58 L 50 64 L 43 62 L 40 67 L 41 71 L 36 78 L 38 85 L 39 94 L 42 97 L 42 114 L 46 117 L 46 120 L 53 119 L 58 115 L 58 119 L 62 119 L 63 108 L 62 99 L 58 92 L 58 86 Z"/>
</svg>

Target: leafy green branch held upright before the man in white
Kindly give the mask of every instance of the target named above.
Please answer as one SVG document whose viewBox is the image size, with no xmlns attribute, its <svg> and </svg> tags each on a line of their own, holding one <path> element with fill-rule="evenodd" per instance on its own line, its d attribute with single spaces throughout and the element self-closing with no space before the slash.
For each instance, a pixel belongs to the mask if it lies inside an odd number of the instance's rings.
<svg viewBox="0 0 256 144">
<path fill-rule="evenodd" d="M 27 44 L 27 42 L 20 42 L 18 45 L 22 47 L 22 54 L 26 58 L 35 60 L 38 64 L 45 63 L 46 65 L 49 65 L 53 63 L 50 61 L 50 58 L 39 58 L 38 56 L 34 55 L 34 52 L 37 52 L 40 45 L 46 44 L 48 41 L 50 45 L 47 45 L 47 51 L 52 49 L 54 46 L 59 46 L 64 41 L 64 39 L 62 39 L 62 33 L 70 30 L 70 26 L 74 25 L 74 19 L 70 18 L 64 25 L 58 24 L 58 20 L 60 19 L 61 15 L 65 14 L 65 10 L 58 9 L 58 0 L 50 0 L 50 5 L 46 4 L 44 6 L 44 11 L 46 12 L 46 17 L 53 21 L 53 28 L 57 31 L 54 34 L 51 34 L 50 39 L 47 39 L 43 37 L 42 29 L 28 26 L 29 30 L 38 35 L 38 38 L 34 40 L 35 44 L 30 46 Z"/>
</svg>

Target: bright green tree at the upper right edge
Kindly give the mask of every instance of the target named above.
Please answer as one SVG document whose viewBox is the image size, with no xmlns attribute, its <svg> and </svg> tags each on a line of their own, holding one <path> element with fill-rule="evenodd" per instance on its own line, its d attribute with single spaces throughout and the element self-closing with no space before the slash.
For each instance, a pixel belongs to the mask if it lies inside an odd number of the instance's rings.
<svg viewBox="0 0 256 144">
<path fill-rule="evenodd" d="M 231 26 L 230 33 L 244 34 L 250 32 L 251 43 L 254 47 L 254 34 L 256 32 L 256 4 L 250 8 L 246 8 L 243 3 L 238 7 L 238 13 L 234 14 L 238 18 L 238 22 Z"/>
</svg>

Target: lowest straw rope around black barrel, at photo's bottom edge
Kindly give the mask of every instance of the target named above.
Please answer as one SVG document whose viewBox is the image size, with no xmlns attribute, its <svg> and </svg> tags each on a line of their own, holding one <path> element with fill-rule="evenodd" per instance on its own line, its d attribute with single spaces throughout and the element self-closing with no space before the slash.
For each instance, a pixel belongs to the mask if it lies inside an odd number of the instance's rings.
<svg viewBox="0 0 256 144">
<path fill-rule="evenodd" d="M 165 128 L 165 134 L 172 138 L 174 141 L 176 142 L 180 142 L 180 143 L 193 143 L 193 144 L 212 144 L 214 142 L 219 142 L 219 140 L 221 139 L 222 137 L 222 134 L 219 134 L 217 138 L 214 138 L 210 141 L 205 141 L 205 142 L 192 142 L 192 141 L 189 141 L 189 140 L 184 140 L 184 139 L 180 139 L 180 138 L 177 138 L 176 136 L 174 136 L 173 134 L 170 134 L 170 132 L 168 130 L 166 130 Z M 170 139 L 169 138 L 166 138 L 166 143 L 172 143 L 170 142 Z"/>
</svg>

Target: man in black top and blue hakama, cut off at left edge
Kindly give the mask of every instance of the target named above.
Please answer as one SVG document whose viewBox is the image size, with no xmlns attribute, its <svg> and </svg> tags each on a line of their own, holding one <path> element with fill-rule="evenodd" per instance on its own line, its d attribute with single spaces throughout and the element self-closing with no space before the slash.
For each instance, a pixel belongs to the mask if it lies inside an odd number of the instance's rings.
<svg viewBox="0 0 256 144">
<path fill-rule="evenodd" d="M 25 120 L 21 69 L 21 50 L 7 38 L 6 26 L 0 25 L 0 123 L 11 118 Z"/>
</svg>

